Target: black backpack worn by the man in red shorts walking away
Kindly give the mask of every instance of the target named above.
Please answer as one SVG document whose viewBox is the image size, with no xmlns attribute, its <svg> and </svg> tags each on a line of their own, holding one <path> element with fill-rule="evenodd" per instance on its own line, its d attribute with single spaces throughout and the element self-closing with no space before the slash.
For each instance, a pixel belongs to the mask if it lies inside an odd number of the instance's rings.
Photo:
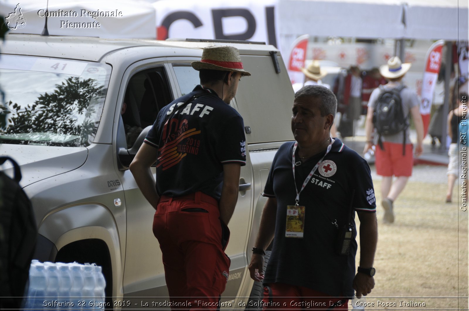
<svg viewBox="0 0 469 311">
<path fill-rule="evenodd" d="M 378 132 L 378 144 L 383 149 L 382 135 L 393 135 L 404 132 L 404 141 L 402 142 L 402 154 L 405 155 L 406 131 L 409 126 L 408 115 L 404 116 L 402 110 L 401 90 L 405 85 L 400 85 L 395 89 L 385 89 L 379 86 L 381 92 L 375 103 L 373 111 L 373 125 Z"/>
</svg>

